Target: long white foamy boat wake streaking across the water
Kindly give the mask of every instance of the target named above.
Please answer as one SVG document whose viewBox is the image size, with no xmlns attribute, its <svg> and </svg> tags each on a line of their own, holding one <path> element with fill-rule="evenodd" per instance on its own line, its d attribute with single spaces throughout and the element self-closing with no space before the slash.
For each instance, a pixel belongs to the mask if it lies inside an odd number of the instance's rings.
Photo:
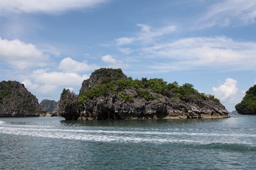
<svg viewBox="0 0 256 170">
<path fill-rule="evenodd" d="M 42 128 L 42 127 L 41 127 Z M 243 133 L 203 133 L 203 132 L 183 132 L 183 131 L 145 131 L 145 129 L 136 129 L 127 131 L 117 130 L 99 130 L 97 129 L 55 129 L 49 127 L 41 129 L 31 126 L 0 126 L 0 133 L 14 135 L 30 135 L 34 137 L 71 139 L 92 142 L 129 142 L 129 143 L 188 143 L 195 145 L 206 145 L 211 143 L 220 144 L 242 144 L 256 146 L 255 134 Z M 143 131 L 144 130 L 144 131 Z M 241 140 L 240 138 L 246 137 Z"/>
</svg>

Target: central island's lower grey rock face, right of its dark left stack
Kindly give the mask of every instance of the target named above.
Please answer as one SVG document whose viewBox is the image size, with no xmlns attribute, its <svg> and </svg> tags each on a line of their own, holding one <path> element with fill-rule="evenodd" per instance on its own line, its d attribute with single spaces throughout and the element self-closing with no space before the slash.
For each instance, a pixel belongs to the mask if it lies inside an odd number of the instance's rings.
<svg viewBox="0 0 256 170">
<path fill-rule="evenodd" d="M 133 89 L 126 89 L 125 92 L 134 95 L 134 102 L 123 103 L 118 94 L 88 99 L 84 102 L 85 110 L 80 112 L 78 120 L 229 117 L 222 104 L 210 99 L 185 96 L 185 102 L 174 96 L 159 96 L 159 99 L 146 101 L 139 99 Z M 157 95 L 152 91 L 151 93 Z"/>
</svg>

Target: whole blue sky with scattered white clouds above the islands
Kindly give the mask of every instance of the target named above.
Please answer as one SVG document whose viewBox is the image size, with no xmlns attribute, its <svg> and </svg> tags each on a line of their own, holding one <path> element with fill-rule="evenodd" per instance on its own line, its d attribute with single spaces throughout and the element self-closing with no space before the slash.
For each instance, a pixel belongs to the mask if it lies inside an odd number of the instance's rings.
<svg viewBox="0 0 256 170">
<path fill-rule="evenodd" d="M 256 84 L 254 0 L 1 0 L 0 81 L 40 101 L 100 68 L 194 85 L 235 110 Z"/>
</svg>

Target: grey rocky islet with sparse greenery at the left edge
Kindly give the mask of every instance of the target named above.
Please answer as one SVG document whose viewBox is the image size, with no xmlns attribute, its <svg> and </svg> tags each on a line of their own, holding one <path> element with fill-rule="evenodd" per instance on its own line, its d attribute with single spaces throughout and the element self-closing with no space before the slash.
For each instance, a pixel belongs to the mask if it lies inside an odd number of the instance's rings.
<svg viewBox="0 0 256 170">
<path fill-rule="evenodd" d="M 0 117 L 39 116 L 38 99 L 16 81 L 0 82 Z"/>
</svg>

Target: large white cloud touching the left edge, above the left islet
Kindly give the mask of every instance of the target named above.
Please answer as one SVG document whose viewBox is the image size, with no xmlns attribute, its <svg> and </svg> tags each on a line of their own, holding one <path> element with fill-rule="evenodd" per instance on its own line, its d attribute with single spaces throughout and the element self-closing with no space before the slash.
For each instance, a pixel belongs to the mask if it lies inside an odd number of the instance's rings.
<svg viewBox="0 0 256 170">
<path fill-rule="evenodd" d="M 0 59 L 14 69 L 49 66 L 49 56 L 33 44 L 26 44 L 18 39 L 2 40 L 0 37 Z"/>
</svg>

